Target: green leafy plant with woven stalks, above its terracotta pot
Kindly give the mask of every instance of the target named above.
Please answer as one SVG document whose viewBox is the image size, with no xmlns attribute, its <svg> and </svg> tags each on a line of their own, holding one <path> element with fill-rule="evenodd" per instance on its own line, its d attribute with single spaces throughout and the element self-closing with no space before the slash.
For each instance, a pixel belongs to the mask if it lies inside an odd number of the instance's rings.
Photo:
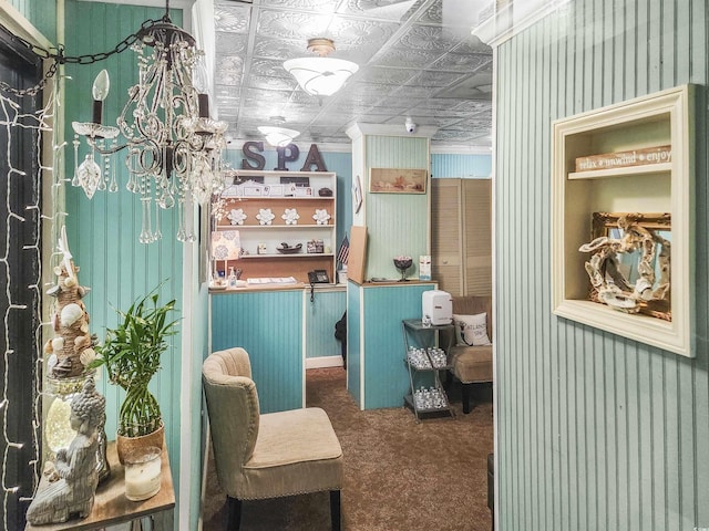
<svg viewBox="0 0 709 531">
<path fill-rule="evenodd" d="M 125 437 L 151 434 L 162 424 L 160 405 L 147 385 L 161 366 L 167 339 L 177 333 L 177 320 L 167 320 L 175 309 L 174 299 L 157 304 L 158 289 L 160 285 L 133 302 L 126 312 L 116 309 L 123 321 L 115 329 L 106 329 L 106 339 L 96 346 L 99 355 L 91 364 L 105 366 L 109 382 L 125 391 L 117 428 L 119 435 Z"/>
</svg>

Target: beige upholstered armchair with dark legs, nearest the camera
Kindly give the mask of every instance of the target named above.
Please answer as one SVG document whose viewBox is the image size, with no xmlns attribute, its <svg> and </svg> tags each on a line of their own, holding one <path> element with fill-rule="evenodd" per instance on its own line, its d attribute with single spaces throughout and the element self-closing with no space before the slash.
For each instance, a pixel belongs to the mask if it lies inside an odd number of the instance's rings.
<svg viewBox="0 0 709 531">
<path fill-rule="evenodd" d="M 339 530 L 342 449 L 327 414 L 308 407 L 261 415 L 244 348 L 210 354 L 202 379 L 229 529 L 239 528 L 243 500 L 328 490 Z"/>
</svg>

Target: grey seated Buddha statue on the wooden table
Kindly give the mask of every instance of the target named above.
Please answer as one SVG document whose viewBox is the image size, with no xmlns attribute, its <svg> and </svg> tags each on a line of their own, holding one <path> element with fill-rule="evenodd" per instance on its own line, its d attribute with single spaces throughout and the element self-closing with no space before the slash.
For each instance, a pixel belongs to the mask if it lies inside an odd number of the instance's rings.
<svg viewBox="0 0 709 531">
<path fill-rule="evenodd" d="M 86 378 L 71 402 L 70 423 L 76 437 L 44 467 L 49 481 L 40 485 L 27 511 L 31 524 L 65 522 L 73 514 L 86 518 L 91 513 L 99 483 L 97 428 L 105 407 L 106 399 L 96 392 L 93 377 Z"/>
</svg>

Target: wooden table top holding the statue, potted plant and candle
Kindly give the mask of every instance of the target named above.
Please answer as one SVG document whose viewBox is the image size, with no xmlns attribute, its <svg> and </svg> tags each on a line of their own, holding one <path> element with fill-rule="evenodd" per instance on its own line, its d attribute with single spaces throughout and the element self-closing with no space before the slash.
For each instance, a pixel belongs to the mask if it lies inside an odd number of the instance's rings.
<svg viewBox="0 0 709 531">
<path fill-rule="evenodd" d="M 160 491 L 152 498 L 144 501 L 131 501 L 125 497 L 124 470 L 119 462 L 115 451 L 115 441 L 109 442 L 106 457 L 111 466 L 111 477 L 96 489 L 91 514 L 84 519 L 70 519 L 63 523 L 48 523 L 44 525 L 27 524 L 25 531 L 62 531 L 62 530 L 88 530 L 103 529 L 125 522 L 135 522 L 150 517 L 153 519 L 154 530 L 173 531 L 173 510 L 175 508 L 175 490 L 173 488 L 173 477 L 169 470 L 169 459 L 167 447 L 163 445 L 162 459 L 162 482 Z M 40 486 L 47 481 L 45 477 L 40 480 Z M 135 522 L 138 523 L 138 522 Z M 131 529 L 134 529 L 132 525 Z M 140 528 L 140 523 L 137 525 Z"/>
</svg>

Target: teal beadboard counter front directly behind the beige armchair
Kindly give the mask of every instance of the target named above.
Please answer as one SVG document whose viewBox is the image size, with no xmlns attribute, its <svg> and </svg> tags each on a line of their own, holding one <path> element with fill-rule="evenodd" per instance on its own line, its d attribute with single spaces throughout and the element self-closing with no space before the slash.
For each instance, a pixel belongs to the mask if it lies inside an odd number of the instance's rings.
<svg viewBox="0 0 709 531">
<path fill-rule="evenodd" d="M 212 295 L 212 351 L 248 352 L 261 413 L 304 406 L 304 296 L 302 290 Z"/>
</svg>

